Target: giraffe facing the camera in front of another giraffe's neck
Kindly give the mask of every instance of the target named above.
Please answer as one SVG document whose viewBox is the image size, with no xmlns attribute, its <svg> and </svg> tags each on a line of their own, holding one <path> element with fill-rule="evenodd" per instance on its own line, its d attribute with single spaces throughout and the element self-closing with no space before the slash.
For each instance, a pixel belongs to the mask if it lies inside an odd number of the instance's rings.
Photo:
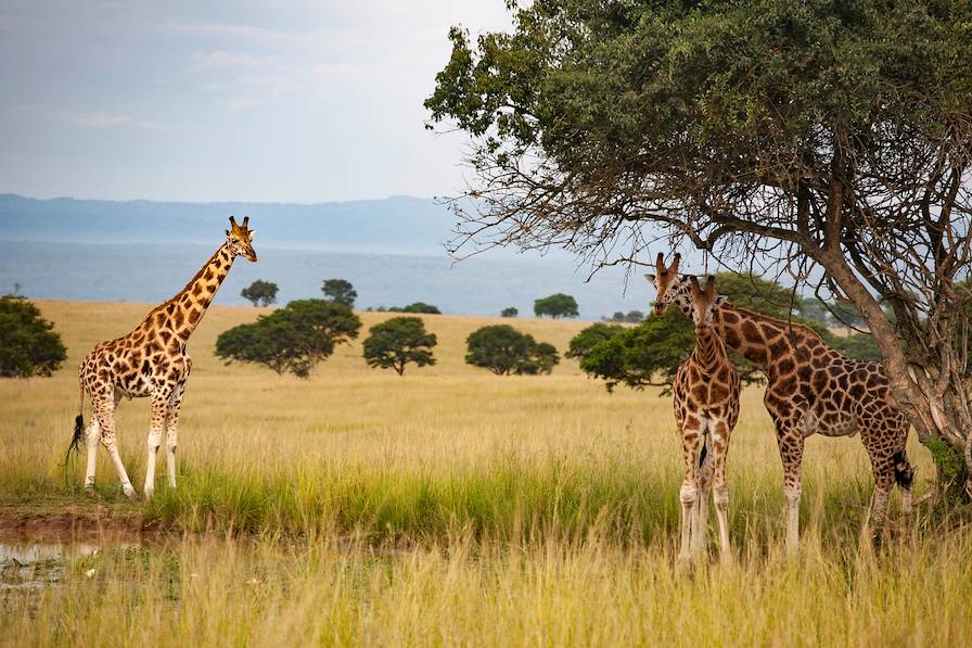
<svg viewBox="0 0 972 648">
<path fill-rule="evenodd" d="M 681 432 L 685 473 L 679 492 L 681 501 L 681 549 L 679 560 L 698 557 L 708 524 L 708 493 L 715 480 L 714 500 L 719 523 L 722 562 L 729 552 L 729 488 L 726 483 L 726 456 L 729 435 L 739 420 L 739 372 L 726 345 L 716 334 L 713 316 L 726 301 L 716 296 L 715 277 L 705 289 L 695 277 L 689 279 L 695 348 L 675 373 L 675 420 Z"/>
</svg>

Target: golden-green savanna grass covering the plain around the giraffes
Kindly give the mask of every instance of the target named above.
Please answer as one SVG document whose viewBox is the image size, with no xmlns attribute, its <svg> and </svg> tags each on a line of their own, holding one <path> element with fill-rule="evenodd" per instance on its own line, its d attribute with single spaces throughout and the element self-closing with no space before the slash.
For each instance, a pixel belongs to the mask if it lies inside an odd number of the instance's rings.
<svg viewBox="0 0 972 648">
<path fill-rule="evenodd" d="M 931 645 L 972 643 L 972 532 L 958 514 L 904 520 L 880 547 L 857 439 L 808 441 L 802 551 L 783 556 L 781 469 L 762 390 L 729 454 L 734 560 L 675 569 L 680 445 L 670 401 L 608 394 L 562 360 L 552 376 L 463 364 L 497 320 L 423 316 L 438 364 L 368 368 L 360 340 L 310 380 L 213 356 L 260 309 L 214 307 L 190 341 L 179 486 L 129 504 L 107 457 L 98 496 L 62 468 L 78 360 L 130 330 L 140 304 L 39 302 L 69 359 L 0 381 L 0 507 L 71 509 L 168 530 L 72 559 L 40 593 L 4 594 L 0 643 L 30 645 Z M 388 317 L 361 314 L 367 328 Z M 503 320 L 510 322 L 509 320 Z M 563 352 L 585 325 L 514 320 Z M 90 416 L 90 409 L 86 409 Z M 118 435 L 139 488 L 146 401 Z M 912 441 L 918 494 L 932 468 Z M 161 458 L 161 463 L 164 460 Z"/>
</svg>

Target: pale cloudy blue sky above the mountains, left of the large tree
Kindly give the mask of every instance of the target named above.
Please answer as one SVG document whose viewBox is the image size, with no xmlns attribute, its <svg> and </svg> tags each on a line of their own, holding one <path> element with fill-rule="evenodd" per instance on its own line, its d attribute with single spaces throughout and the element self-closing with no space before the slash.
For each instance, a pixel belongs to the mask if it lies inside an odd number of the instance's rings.
<svg viewBox="0 0 972 648">
<path fill-rule="evenodd" d="M 463 185 L 423 128 L 452 24 L 503 0 L 0 0 L 0 192 L 321 202 Z"/>
</svg>

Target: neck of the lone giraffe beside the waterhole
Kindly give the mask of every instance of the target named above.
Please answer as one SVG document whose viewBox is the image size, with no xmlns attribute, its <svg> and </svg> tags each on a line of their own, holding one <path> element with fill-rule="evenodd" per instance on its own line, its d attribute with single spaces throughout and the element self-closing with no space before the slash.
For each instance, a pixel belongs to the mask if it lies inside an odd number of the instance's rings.
<svg viewBox="0 0 972 648">
<path fill-rule="evenodd" d="M 234 259 L 229 244 L 225 243 L 186 288 L 149 315 L 146 322 L 153 329 L 171 331 L 182 342 L 188 340 L 213 303 Z"/>
</svg>

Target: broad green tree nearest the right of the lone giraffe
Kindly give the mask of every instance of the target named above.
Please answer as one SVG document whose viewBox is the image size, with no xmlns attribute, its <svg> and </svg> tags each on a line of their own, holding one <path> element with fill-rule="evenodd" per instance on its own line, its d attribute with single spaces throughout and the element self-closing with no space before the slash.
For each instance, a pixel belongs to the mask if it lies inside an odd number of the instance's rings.
<svg viewBox="0 0 972 648">
<path fill-rule="evenodd" d="M 360 328 L 361 320 L 344 304 L 299 300 L 223 331 L 216 340 L 216 355 L 227 364 L 255 363 L 278 374 L 307 378 L 337 344 L 357 338 Z"/>
</svg>

